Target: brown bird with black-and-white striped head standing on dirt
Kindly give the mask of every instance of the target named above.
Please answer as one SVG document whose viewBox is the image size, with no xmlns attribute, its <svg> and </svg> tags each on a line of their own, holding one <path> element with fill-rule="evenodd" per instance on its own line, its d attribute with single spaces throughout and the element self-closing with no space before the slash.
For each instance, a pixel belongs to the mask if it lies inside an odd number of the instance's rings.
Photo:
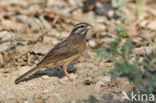
<svg viewBox="0 0 156 103">
<path fill-rule="evenodd" d="M 42 68 L 48 69 L 54 66 L 60 66 L 64 75 L 67 76 L 69 80 L 73 80 L 67 72 L 67 66 L 82 56 L 86 49 L 86 35 L 92 27 L 91 24 L 86 22 L 74 25 L 69 36 L 54 48 L 51 48 L 33 69 L 18 77 L 15 80 L 15 84 L 22 82 L 25 78 Z"/>
</svg>

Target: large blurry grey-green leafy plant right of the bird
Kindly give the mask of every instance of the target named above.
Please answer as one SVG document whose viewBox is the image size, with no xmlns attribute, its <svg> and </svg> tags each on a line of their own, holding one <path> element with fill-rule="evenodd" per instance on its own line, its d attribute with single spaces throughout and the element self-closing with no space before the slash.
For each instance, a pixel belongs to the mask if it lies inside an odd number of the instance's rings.
<svg viewBox="0 0 156 103">
<path fill-rule="evenodd" d="M 98 56 L 114 63 L 114 69 L 109 71 L 113 78 L 126 77 L 133 83 L 135 90 L 141 93 L 153 93 L 156 90 L 156 53 L 146 54 L 143 61 L 140 56 L 133 56 L 133 44 L 126 38 L 126 29 L 115 28 L 119 36 L 109 44 L 109 48 L 95 49 Z M 121 46 L 120 43 L 126 39 Z"/>
</svg>

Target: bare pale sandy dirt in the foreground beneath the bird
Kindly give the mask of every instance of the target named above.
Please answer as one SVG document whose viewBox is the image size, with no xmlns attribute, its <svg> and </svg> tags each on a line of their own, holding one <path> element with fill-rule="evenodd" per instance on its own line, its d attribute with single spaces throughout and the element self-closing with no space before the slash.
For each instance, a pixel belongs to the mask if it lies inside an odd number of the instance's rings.
<svg viewBox="0 0 156 103">
<path fill-rule="evenodd" d="M 87 59 L 68 67 L 73 81 L 64 77 L 59 67 L 39 71 L 17 85 L 14 80 L 31 69 L 30 66 L 8 73 L 1 71 L 0 100 L 2 103 L 75 103 L 78 100 L 83 103 L 92 95 L 98 103 L 121 103 L 122 91 L 132 88 L 129 82 L 125 79 L 113 80 L 105 74 L 111 67 L 102 66 L 104 61 L 100 65 Z"/>
</svg>

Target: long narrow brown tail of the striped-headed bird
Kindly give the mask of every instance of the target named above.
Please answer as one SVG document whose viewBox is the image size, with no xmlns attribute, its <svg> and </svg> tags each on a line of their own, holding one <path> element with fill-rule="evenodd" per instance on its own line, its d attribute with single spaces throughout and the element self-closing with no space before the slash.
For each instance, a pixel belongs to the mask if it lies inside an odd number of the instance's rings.
<svg viewBox="0 0 156 103">
<path fill-rule="evenodd" d="M 22 80 L 24 80 L 25 78 L 29 77 L 30 75 L 34 74 L 37 70 L 39 69 L 38 66 L 34 67 L 33 69 L 29 70 L 28 72 L 24 73 L 23 75 L 21 75 L 20 77 L 18 77 L 15 80 L 15 84 L 18 84 L 19 82 L 21 82 Z"/>
</svg>

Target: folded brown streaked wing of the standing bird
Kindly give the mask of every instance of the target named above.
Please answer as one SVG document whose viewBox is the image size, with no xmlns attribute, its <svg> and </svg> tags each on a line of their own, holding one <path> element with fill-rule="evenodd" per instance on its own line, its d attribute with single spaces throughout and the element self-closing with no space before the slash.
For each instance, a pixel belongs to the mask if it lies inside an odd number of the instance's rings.
<svg viewBox="0 0 156 103">
<path fill-rule="evenodd" d="M 47 55 L 40 61 L 38 65 L 47 65 L 49 63 L 57 63 L 58 61 L 67 59 L 79 53 L 80 44 L 77 40 L 66 39 L 51 49 Z"/>
</svg>

